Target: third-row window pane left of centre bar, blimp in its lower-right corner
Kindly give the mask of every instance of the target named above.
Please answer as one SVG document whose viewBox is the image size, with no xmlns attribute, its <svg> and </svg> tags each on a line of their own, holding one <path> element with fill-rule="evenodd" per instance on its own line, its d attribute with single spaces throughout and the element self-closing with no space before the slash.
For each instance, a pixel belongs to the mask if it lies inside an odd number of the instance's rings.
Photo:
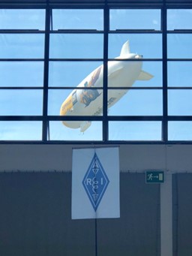
<svg viewBox="0 0 192 256">
<path fill-rule="evenodd" d="M 86 81 L 92 80 L 95 69 L 101 65 L 102 62 L 49 62 L 49 86 L 76 87 L 83 80 L 86 83 Z M 91 74 L 92 72 L 94 73 Z M 102 70 L 100 73 L 102 74 Z M 89 74 L 91 77 L 88 77 Z M 103 86 L 102 76 L 100 86 Z"/>
</svg>

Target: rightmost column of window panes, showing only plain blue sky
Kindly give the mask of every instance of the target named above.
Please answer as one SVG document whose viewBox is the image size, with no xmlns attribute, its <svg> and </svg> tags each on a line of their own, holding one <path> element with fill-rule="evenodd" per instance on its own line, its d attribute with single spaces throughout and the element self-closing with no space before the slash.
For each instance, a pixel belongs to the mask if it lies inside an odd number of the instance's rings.
<svg viewBox="0 0 192 256">
<path fill-rule="evenodd" d="M 192 9 L 167 10 L 167 107 L 170 116 L 170 141 L 191 141 L 191 14 Z"/>
</svg>

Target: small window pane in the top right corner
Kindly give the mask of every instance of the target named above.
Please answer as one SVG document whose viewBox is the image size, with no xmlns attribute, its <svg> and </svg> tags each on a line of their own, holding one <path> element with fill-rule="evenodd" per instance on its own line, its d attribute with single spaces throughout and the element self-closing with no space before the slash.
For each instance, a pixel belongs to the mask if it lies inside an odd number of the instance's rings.
<svg viewBox="0 0 192 256">
<path fill-rule="evenodd" d="M 192 9 L 168 9 L 167 29 L 192 29 Z"/>
</svg>

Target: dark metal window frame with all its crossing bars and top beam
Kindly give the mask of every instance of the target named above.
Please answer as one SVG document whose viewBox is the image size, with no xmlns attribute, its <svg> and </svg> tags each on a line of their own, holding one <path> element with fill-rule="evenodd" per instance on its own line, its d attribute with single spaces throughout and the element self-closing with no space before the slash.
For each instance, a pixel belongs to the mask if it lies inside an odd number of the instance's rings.
<svg viewBox="0 0 192 256">
<path fill-rule="evenodd" d="M 167 111 L 167 92 L 168 89 L 184 89 L 181 87 L 168 87 L 167 85 L 167 62 L 168 61 L 178 61 L 178 59 L 168 59 L 167 58 L 167 35 L 170 33 L 191 33 L 191 30 L 177 30 L 177 31 L 167 31 L 166 29 L 166 10 L 167 9 L 181 9 L 181 8 L 192 8 L 192 2 L 176 2 L 172 3 L 170 1 L 159 1 L 159 2 L 110 2 L 110 1 L 101 1 L 101 2 L 94 2 L 93 4 L 90 4 L 88 2 L 53 2 L 53 1 L 28 1 L 28 3 L 24 4 L 23 1 L 9 1 L 9 2 L 1 2 L 0 3 L 1 9 L 45 9 L 46 10 L 46 20 L 45 20 L 45 31 L 35 31 L 31 29 L 26 29 L 25 33 L 43 33 L 45 36 L 45 42 L 44 42 L 44 58 L 43 59 L 0 59 L 1 62 L 13 62 L 13 61 L 41 61 L 44 62 L 44 73 L 43 73 L 43 115 L 42 116 L 0 116 L 0 121 L 41 121 L 42 122 L 42 140 L 38 141 L 17 141 L 17 140 L 7 140 L 7 141 L 1 141 L 0 143 L 43 143 L 43 144 L 174 144 L 174 143 L 184 143 L 184 144 L 192 144 L 192 141 L 170 141 L 168 140 L 168 122 L 169 121 L 192 121 L 192 115 L 191 116 L 168 116 Z M 53 89 L 52 87 L 48 86 L 49 83 L 49 61 L 56 61 L 57 59 L 49 59 L 49 37 L 50 34 L 54 34 L 55 32 L 52 31 L 52 9 L 60 9 L 60 8 L 68 8 L 68 9 L 102 9 L 104 10 L 104 31 L 95 31 L 94 33 L 102 33 L 104 35 L 104 57 L 103 59 L 59 59 L 59 61 L 102 61 L 104 63 L 104 94 L 103 94 L 103 100 L 104 100 L 104 113 L 103 116 L 49 116 L 48 115 L 48 90 Z M 160 9 L 161 11 L 161 30 L 160 31 L 148 31 L 147 29 L 142 30 L 128 30 L 123 29 L 121 31 L 110 31 L 110 9 L 115 8 L 127 8 L 127 9 Z M 0 33 L 22 33 L 22 29 L 17 30 L 0 30 Z M 69 29 L 65 31 L 60 31 L 59 33 L 93 33 L 92 30 L 76 30 L 74 31 Z M 58 32 L 57 32 L 58 33 Z M 163 115 L 162 116 L 107 116 L 107 62 L 108 60 L 108 35 L 110 33 L 160 33 L 162 35 L 162 50 L 163 50 L 163 56 L 162 59 L 144 59 L 143 61 L 160 61 L 163 63 L 163 87 L 155 87 L 155 88 L 147 88 L 147 87 L 141 87 L 138 89 L 162 89 L 163 91 Z M 179 59 L 179 61 L 192 61 L 192 59 Z M 1 87 L 1 89 L 42 89 L 42 88 L 27 88 L 27 87 Z M 54 89 L 57 89 L 54 87 Z M 60 87 L 58 89 L 61 89 Z M 66 89 L 66 88 L 65 88 Z M 70 88 L 71 89 L 71 88 Z M 192 89 L 192 87 L 187 87 L 186 89 Z M 77 121 L 77 120 L 90 120 L 90 121 L 101 121 L 103 123 L 103 140 L 101 141 L 87 141 L 87 140 L 49 140 L 49 122 L 50 121 L 62 121 L 62 120 L 71 120 L 71 121 Z M 113 141 L 109 140 L 109 122 L 110 121 L 160 121 L 162 122 L 162 140 L 157 141 Z"/>
</svg>

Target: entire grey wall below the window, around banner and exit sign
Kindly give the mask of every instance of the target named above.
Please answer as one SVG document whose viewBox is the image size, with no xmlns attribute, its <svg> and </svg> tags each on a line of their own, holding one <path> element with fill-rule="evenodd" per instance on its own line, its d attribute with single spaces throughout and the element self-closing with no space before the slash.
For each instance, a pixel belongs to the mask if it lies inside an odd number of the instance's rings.
<svg viewBox="0 0 192 256">
<path fill-rule="evenodd" d="M 77 147 L 0 145 L 1 255 L 95 255 L 95 221 L 71 220 Z M 119 146 L 121 218 L 97 221 L 98 256 L 192 254 L 191 149 Z M 164 170 L 163 185 L 145 184 L 145 170 Z"/>
</svg>

